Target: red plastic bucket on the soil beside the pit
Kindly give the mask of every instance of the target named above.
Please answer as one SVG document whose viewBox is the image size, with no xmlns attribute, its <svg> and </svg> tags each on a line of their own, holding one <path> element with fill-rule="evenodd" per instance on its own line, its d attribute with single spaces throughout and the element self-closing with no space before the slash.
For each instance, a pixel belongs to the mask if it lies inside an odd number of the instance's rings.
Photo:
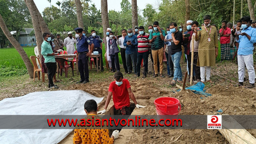
<svg viewBox="0 0 256 144">
<path fill-rule="evenodd" d="M 172 97 L 157 98 L 154 101 L 157 115 L 177 115 L 180 113 L 180 100 Z"/>
</svg>

